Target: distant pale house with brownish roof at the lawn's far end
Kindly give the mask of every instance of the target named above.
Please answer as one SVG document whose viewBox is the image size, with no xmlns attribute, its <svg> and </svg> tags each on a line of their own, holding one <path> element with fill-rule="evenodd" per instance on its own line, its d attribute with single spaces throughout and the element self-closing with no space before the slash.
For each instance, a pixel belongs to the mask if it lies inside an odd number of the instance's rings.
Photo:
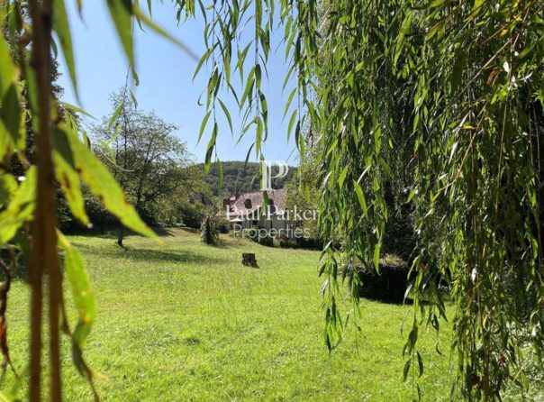
<svg viewBox="0 0 544 402">
<path fill-rule="evenodd" d="M 289 226 L 285 215 L 286 190 L 270 190 L 267 195 L 267 206 L 263 206 L 262 191 L 232 194 L 224 198 L 222 204 L 231 229 L 286 229 Z"/>
</svg>

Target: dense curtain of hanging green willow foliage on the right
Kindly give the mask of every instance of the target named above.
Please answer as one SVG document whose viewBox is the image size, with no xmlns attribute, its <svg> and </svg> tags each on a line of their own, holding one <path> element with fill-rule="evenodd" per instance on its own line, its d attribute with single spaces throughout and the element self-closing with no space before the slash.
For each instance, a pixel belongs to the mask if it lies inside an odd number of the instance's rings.
<svg viewBox="0 0 544 402">
<path fill-rule="evenodd" d="M 231 94 L 249 120 L 242 135 L 255 126 L 258 155 L 267 138 L 261 71 L 271 32 L 284 33 L 284 88 L 296 83 L 287 90 L 288 135 L 295 131 L 304 155 L 304 122 L 319 133 L 322 237 L 344 236 L 320 262 L 328 347 L 357 318 L 360 283 L 352 276 L 346 289 L 343 279 L 356 264 L 378 269 L 393 187 L 418 233 L 404 378 L 422 374 L 420 326 L 438 331 L 447 319 L 442 284 L 453 310 L 452 397 L 490 400 L 507 382 L 524 387 L 521 343 L 532 341 L 541 364 L 544 324 L 541 2 L 177 3 L 178 16 L 200 5 L 209 22 L 198 68 L 213 66 L 201 135 L 218 94 Z M 208 163 L 217 133 L 214 122 Z M 353 308 L 344 316 L 346 294 Z"/>
</svg>

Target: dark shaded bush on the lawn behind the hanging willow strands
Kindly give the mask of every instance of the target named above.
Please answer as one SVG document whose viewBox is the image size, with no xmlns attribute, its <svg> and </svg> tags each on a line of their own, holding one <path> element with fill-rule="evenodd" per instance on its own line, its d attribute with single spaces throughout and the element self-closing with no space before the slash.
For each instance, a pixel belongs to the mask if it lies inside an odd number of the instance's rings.
<svg viewBox="0 0 544 402">
<path fill-rule="evenodd" d="M 382 300 L 387 302 L 403 302 L 404 293 L 408 287 L 408 272 L 410 267 L 403 260 L 395 256 L 386 256 L 380 260 L 379 273 L 374 264 L 345 268 L 349 277 L 349 284 L 353 280 L 353 274 L 358 275 L 360 285 L 358 294 L 360 297 Z"/>
</svg>

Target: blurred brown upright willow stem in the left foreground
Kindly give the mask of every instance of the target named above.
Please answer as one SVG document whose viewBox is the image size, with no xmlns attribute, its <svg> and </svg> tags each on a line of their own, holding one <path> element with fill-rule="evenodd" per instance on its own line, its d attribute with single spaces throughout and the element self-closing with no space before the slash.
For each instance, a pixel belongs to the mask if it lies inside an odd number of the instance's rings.
<svg viewBox="0 0 544 402">
<path fill-rule="evenodd" d="M 56 199 L 54 170 L 51 160 L 52 124 L 50 116 L 50 45 L 53 23 L 51 0 L 30 1 L 33 42 L 31 67 L 35 77 L 36 99 L 33 101 L 38 112 L 34 123 L 38 146 L 37 205 L 32 230 L 31 262 L 31 379 L 30 400 L 41 400 L 41 324 L 42 324 L 42 281 L 49 275 L 49 355 L 50 355 L 50 400 L 61 400 L 60 358 L 59 358 L 59 306 L 61 278 L 57 255 Z M 32 73 L 31 73 L 32 74 Z M 32 102 L 32 99 L 31 99 Z"/>
</svg>

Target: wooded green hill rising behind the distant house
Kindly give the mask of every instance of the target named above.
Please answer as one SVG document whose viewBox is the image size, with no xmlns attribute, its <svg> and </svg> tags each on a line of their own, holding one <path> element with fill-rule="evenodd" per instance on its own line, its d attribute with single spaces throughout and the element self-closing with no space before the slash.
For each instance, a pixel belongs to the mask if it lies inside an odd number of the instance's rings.
<svg viewBox="0 0 544 402">
<path fill-rule="evenodd" d="M 204 164 L 202 164 L 204 169 Z M 273 174 L 275 174 L 273 171 Z M 286 183 L 293 178 L 296 168 L 289 167 L 289 172 L 285 178 L 274 178 L 272 180 L 273 188 L 283 188 Z M 228 196 L 235 191 L 251 192 L 258 191 L 259 173 L 258 163 L 243 161 L 227 161 L 222 162 L 223 182 L 222 188 L 219 189 L 219 170 L 217 164 L 213 163 L 210 172 L 204 175 L 204 180 L 210 186 L 214 196 Z"/>
</svg>

